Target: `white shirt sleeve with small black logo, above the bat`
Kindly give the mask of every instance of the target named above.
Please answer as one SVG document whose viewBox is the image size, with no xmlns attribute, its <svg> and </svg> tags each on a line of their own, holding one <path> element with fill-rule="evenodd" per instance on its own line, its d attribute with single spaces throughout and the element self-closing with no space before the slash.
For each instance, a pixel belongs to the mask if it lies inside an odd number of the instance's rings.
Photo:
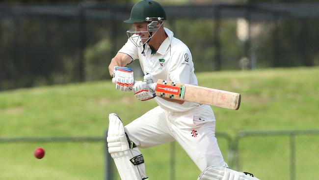
<svg viewBox="0 0 319 180">
<path fill-rule="evenodd" d="M 187 47 L 179 49 L 180 51 L 172 55 L 172 60 L 175 60 L 175 63 L 169 70 L 169 78 L 173 82 L 190 84 L 194 72 L 192 56 Z"/>
</svg>

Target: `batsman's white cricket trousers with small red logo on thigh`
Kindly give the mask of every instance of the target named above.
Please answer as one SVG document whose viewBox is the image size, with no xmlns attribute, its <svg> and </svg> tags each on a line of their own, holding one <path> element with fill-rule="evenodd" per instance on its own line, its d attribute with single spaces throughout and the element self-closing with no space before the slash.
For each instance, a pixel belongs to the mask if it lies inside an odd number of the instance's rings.
<svg viewBox="0 0 319 180">
<path fill-rule="evenodd" d="M 227 166 L 215 137 L 215 118 L 208 105 L 187 112 L 169 112 L 160 106 L 125 126 L 137 147 L 148 148 L 176 140 L 203 171 L 209 166 Z"/>
</svg>

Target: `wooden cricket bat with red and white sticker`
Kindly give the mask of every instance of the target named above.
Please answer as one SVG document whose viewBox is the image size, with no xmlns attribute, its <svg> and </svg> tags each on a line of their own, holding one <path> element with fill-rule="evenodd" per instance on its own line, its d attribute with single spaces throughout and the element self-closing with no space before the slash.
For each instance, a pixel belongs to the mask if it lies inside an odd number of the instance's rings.
<svg viewBox="0 0 319 180">
<path fill-rule="evenodd" d="M 238 110 L 240 94 L 200 86 L 175 83 L 159 79 L 156 84 L 157 96 L 200 104 L 208 104 L 226 109 Z"/>
</svg>

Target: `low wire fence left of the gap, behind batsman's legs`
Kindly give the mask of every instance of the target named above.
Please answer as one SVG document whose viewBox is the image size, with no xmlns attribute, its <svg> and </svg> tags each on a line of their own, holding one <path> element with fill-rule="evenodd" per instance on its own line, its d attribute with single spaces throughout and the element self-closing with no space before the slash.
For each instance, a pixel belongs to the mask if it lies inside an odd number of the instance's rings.
<svg viewBox="0 0 319 180">
<path fill-rule="evenodd" d="M 231 139 L 223 133 L 217 137 L 227 160 Z M 0 147 L 1 180 L 120 180 L 106 137 L 0 138 Z M 34 157 L 37 147 L 45 150 L 43 159 Z M 201 173 L 177 143 L 141 151 L 154 180 L 195 180 Z"/>
</svg>

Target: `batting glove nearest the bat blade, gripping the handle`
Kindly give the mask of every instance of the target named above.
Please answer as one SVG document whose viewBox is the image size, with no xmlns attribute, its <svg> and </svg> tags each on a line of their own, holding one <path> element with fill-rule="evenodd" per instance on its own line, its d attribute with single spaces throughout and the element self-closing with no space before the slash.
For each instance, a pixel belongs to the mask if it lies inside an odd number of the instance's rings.
<svg viewBox="0 0 319 180">
<path fill-rule="evenodd" d="M 137 99 L 146 101 L 155 97 L 153 90 L 150 90 L 146 82 L 135 81 L 133 85 L 133 92 Z"/>
</svg>

